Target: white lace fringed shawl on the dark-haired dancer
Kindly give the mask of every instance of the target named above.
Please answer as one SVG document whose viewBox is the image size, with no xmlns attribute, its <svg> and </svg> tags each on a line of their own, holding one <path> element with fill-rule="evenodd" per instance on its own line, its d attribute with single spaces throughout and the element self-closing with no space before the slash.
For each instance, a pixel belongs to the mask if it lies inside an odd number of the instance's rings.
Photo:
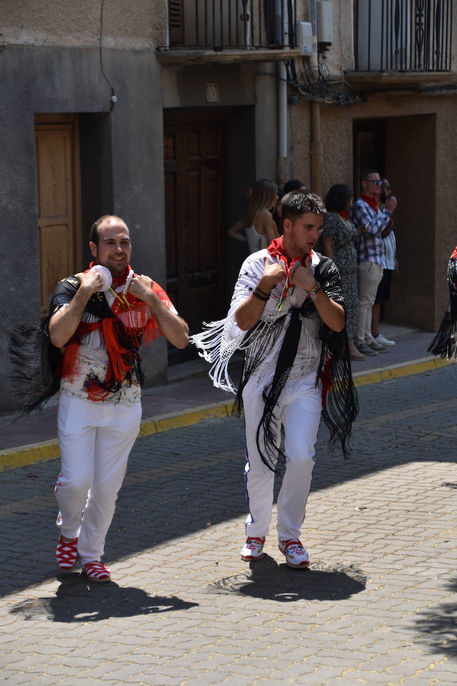
<svg viewBox="0 0 457 686">
<path fill-rule="evenodd" d="M 246 351 L 249 346 L 257 343 L 260 338 L 265 338 L 265 351 L 260 368 L 256 370 L 258 377 L 257 386 L 258 392 L 261 392 L 268 383 L 273 379 L 277 356 L 280 353 L 282 340 L 288 327 L 290 320 L 291 307 L 300 307 L 306 298 L 306 292 L 299 286 L 289 289 L 286 300 L 282 310 L 277 309 L 277 302 L 281 297 L 284 288 L 285 279 L 278 283 L 271 291 L 271 296 L 263 311 L 260 322 L 251 329 L 249 335 L 246 331 L 242 331 L 238 324 L 236 324 L 236 310 L 244 300 L 249 298 L 251 292 L 262 278 L 264 270 L 264 257 L 268 257 L 269 263 L 278 263 L 277 257 L 269 255 L 266 249 L 254 252 L 244 262 L 236 282 L 232 303 L 227 317 L 217 322 L 210 322 L 207 324 L 203 322 L 203 331 L 190 337 L 190 341 L 201 350 L 200 357 L 204 357 L 207 362 L 212 364 L 210 368 L 210 378 L 212 379 L 216 388 L 221 388 L 227 392 L 236 393 L 236 388 L 230 379 L 228 373 L 228 364 L 230 358 L 236 350 Z M 315 252 L 312 252 L 311 269 L 314 269 L 319 264 L 319 257 Z M 279 335 L 275 337 L 273 346 L 268 345 L 269 330 L 271 324 L 278 318 L 284 317 L 284 326 Z M 317 369 L 319 357 L 321 355 L 321 343 L 317 336 L 319 333 L 319 316 L 302 319 L 304 325 L 301 327 L 301 338 L 299 343 L 299 364 L 301 368 Z M 306 372 L 308 373 L 308 372 Z"/>
</svg>

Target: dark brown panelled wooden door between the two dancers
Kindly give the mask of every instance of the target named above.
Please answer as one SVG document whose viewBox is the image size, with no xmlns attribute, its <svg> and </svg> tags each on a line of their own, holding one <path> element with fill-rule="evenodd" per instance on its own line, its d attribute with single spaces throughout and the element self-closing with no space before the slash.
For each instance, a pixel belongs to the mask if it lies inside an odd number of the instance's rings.
<svg viewBox="0 0 457 686">
<path fill-rule="evenodd" d="M 225 316 L 227 114 L 164 121 L 166 290 L 190 332 Z M 195 357 L 170 351 L 169 362 Z"/>
</svg>

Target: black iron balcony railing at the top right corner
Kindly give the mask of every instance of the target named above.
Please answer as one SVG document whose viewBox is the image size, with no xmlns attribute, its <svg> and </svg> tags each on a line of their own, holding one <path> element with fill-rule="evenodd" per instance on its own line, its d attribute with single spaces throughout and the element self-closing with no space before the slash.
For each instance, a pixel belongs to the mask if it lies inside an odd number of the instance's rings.
<svg viewBox="0 0 457 686">
<path fill-rule="evenodd" d="M 357 71 L 450 71 L 453 0 L 358 0 Z"/>
</svg>

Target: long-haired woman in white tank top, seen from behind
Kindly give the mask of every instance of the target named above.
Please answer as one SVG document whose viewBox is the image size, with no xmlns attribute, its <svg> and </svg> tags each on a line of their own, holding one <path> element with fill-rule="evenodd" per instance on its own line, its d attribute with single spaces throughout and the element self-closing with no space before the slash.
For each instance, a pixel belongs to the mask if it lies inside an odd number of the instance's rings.
<svg viewBox="0 0 457 686">
<path fill-rule="evenodd" d="M 228 231 L 231 238 L 247 243 L 249 255 L 267 248 L 273 239 L 280 237 L 273 216 L 269 212 L 269 209 L 275 206 L 276 200 L 276 184 L 267 178 L 257 180 L 252 187 L 244 217 Z M 243 228 L 246 237 L 240 233 Z"/>
</svg>

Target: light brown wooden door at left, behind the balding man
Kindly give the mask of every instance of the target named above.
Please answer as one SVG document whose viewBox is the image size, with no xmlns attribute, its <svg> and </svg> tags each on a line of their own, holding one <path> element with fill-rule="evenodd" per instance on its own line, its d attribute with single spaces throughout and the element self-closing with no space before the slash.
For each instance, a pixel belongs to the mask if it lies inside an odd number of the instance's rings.
<svg viewBox="0 0 457 686">
<path fill-rule="evenodd" d="M 55 284 L 81 267 L 77 117 L 37 115 L 35 123 L 40 316 Z"/>
</svg>

